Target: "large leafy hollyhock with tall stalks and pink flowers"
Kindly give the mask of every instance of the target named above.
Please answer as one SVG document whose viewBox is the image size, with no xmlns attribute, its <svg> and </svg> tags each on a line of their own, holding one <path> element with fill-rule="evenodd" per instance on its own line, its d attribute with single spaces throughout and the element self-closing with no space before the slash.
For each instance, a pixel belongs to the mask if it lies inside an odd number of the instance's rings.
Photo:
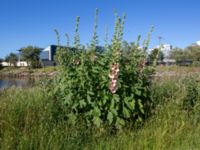
<svg viewBox="0 0 200 150">
<path fill-rule="evenodd" d="M 152 104 L 151 75 L 154 70 L 145 66 L 150 34 L 142 48 L 139 37 L 136 43 L 123 49 L 125 16 L 116 15 L 112 44 L 106 45 L 100 53 L 97 50 L 97 15 L 98 10 L 88 48 L 80 44 L 78 17 L 74 47 L 60 47 L 57 51 L 60 70 L 50 87 L 57 108 L 54 115 L 70 124 L 79 124 L 81 120 L 95 127 L 133 126 L 149 115 Z"/>
</svg>

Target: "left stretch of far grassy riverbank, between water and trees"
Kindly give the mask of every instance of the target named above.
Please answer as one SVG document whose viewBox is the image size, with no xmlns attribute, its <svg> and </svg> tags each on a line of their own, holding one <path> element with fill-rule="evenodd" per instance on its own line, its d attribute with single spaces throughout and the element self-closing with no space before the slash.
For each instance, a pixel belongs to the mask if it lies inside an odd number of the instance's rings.
<svg viewBox="0 0 200 150">
<path fill-rule="evenodd" d="M 37 78 L 37 77 L 52 77 L 56 74 L 56 67 L 45 67 L 37 69 L 29 69 L 27 67 L 5 67 L 0 70 L 0 77 L 11 78 Z"/>
</svg>

